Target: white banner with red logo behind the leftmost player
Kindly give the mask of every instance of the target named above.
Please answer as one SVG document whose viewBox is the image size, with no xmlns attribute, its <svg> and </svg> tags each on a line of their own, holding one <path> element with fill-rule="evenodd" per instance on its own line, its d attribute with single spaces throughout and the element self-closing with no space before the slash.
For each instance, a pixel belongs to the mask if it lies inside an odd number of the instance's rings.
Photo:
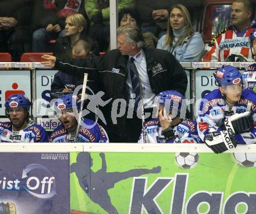
<svg viewBox="0 0 256 214">
<path fill-rule="evenodd" d="M 5 115 L 5 101 L 10 95 L 22 93 L 31 101 L 30 71 L 0 71 L 0 116 Z"/>
</svg>

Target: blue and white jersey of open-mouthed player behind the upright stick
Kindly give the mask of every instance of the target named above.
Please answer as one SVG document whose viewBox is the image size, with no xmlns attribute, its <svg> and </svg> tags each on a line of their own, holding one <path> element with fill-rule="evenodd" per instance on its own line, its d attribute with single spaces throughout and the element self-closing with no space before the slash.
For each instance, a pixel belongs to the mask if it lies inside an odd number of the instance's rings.
<svg viewBox="0 0 256 214">
<path fill-rule="evenodd" d="M 80 125 L 78 143 L 109 143 L 108 135 L 104 128 L 91 119 L 84 118 L 84 124 L 91 126 L 90 128 Z M 67 133 L 63 125 L 57 126 L 50 136 L 51 143 L 74 143 L 76 136 Z"/>
</svg>

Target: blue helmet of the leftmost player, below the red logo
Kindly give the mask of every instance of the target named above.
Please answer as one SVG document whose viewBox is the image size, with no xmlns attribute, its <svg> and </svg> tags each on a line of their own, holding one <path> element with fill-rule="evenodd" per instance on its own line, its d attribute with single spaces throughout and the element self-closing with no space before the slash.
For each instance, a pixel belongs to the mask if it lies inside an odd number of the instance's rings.
<svg viewBox="0 0 256 214">
<path fill-rule="evenodd" d="M 31 106 L 31 103 L 29 101 L 29 98 L 27 98 L 23 94 L 10 95 L 5 102 L 6 114 L 9 114 L 8 110 L 10 108 L 18 108 L 18 107 L 24 107 L 29 112 L 30 106 Z"/>
</svg>

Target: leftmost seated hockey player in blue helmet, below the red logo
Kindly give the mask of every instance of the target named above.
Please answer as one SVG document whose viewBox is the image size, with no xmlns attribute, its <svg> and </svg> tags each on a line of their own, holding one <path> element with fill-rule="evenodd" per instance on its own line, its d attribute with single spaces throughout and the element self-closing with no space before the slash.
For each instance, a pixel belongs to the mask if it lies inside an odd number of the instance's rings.
<svg viewBox="0 0 256 214">
<path fill-rule="evenodd" d="M 5 114 L 10 122 L 0 122 L 0 142 L 48 142 L 44 128 L 29 121 L 31 103 L 22 94 L 10 95 L 5 102 Z"/>
</svg>

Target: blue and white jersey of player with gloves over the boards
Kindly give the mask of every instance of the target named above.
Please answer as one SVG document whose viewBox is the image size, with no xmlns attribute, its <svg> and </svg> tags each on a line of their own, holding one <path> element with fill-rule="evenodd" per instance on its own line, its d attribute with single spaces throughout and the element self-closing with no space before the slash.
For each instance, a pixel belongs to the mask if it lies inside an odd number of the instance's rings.
<svg viewBox="0 0 256 214">
<path fill-rule="evenodd" d="M 254 113 L 254 128 L 248 132 L 236 133 L 234 138 L 239 144 L 256 143 L 256 93 L 244 89 L 241 99 L 230 108 L 222 97 L 219 89 L 213 90 L 202 99 L 197 118 L 198 134 L 202 140 L 211 132 L 218 132 L 224 128 L 224 119 L 233 114 L 240 114 L 246 111 Z"/>
</svg>

